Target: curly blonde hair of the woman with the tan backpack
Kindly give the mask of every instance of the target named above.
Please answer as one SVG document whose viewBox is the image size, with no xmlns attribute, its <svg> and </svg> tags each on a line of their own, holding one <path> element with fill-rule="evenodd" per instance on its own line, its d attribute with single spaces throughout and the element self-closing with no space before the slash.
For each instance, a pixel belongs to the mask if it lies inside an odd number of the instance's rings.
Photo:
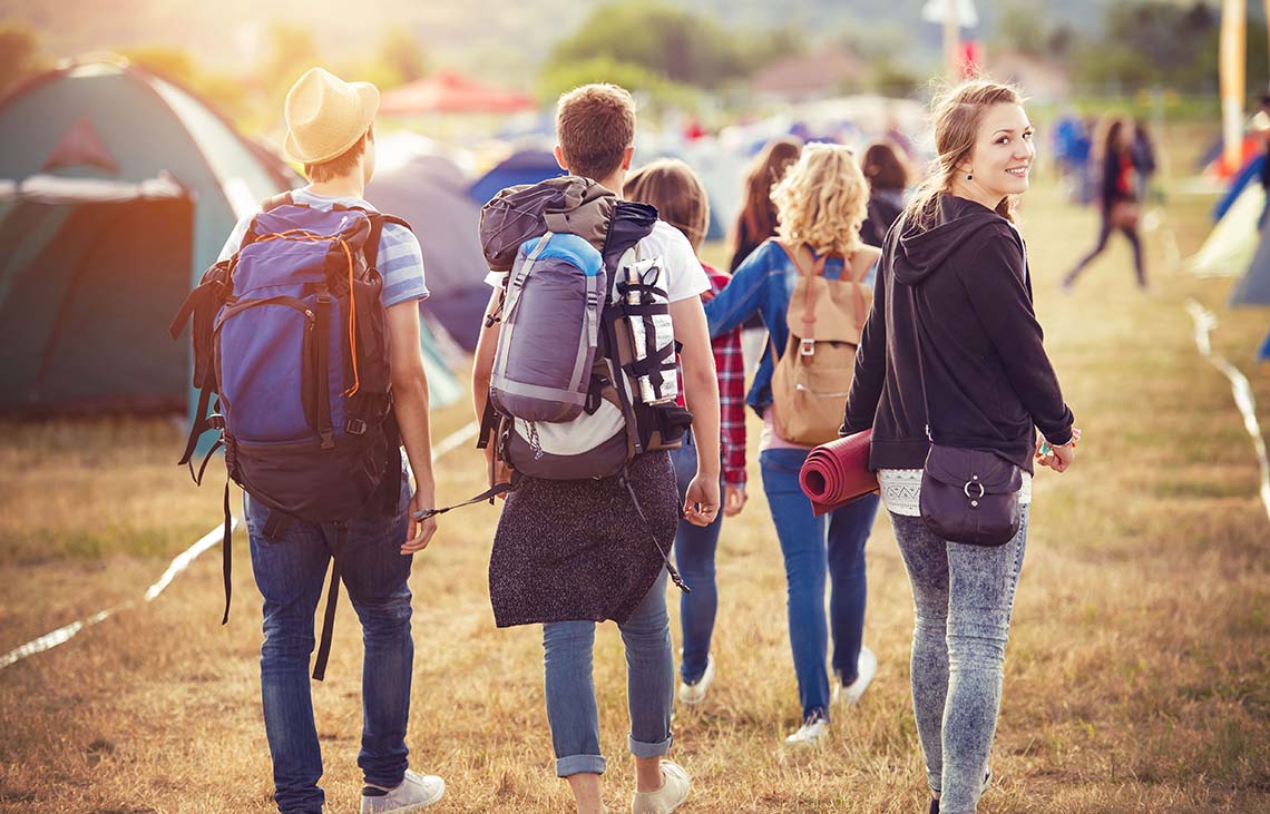
<svg viewBox="0 0 1270 814">
<path fill-rule="evenodd" d="M 776 234 L 787 244 L 841 257 L 864 245 L 860 225 L 867 213 L 869 182 L 848 147 L 804 147 L 798 164 L 772 189 L 772 203 Z"/>
</svg>

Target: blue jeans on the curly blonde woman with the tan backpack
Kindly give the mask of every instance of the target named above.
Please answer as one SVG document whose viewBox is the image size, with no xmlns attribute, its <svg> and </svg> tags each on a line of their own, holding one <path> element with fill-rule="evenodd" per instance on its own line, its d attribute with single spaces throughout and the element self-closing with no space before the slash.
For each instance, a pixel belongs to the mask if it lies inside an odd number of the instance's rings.
<svg viewBox="0 0 1270 814">
<path fill-rule="evenodd" d="M 866 495 L 827 517 L 814 517 L 812 502 L 798 485 L 798 472 L 805 460 L 804 450 L 765 450 L 758 455 L 763 493 L 785 556 L 790 646 L 804 720 L 828 717 L 826 650 L 829 631 L 833 634 L 834 674 L 847 684 L 856 679 L 867 597 L 865 542 L 878 514 L 878 495 Z M 828 625 L 824 615 L 827 570 Z"/>
</svg>

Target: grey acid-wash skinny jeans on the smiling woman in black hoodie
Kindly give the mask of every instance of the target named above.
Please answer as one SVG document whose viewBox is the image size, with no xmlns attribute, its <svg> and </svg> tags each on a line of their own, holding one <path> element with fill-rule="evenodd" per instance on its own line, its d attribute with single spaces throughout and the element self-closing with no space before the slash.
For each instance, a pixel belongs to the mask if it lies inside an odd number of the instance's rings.
<svg viewBox="0 0 1270 814">
<path fill-rule="evenodd" d="M 1001 676 L 1027 507 L 1003 546 L 947 542 L 919 517 L 890 516 L 913 585 L 913 712 L 940 814 L 973 814 L 1001 711 Z"/>
</svg>

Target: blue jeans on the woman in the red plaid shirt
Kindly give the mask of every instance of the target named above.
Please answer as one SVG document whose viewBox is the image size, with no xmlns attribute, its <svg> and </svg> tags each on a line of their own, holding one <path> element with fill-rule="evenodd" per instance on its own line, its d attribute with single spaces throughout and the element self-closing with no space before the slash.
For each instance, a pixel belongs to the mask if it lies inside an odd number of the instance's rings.
<svg viewBox="0 0 1270 814">
<path fill-rule="evenodd" d="M 671 452 L 674 477 L 679 485 L 679 502 L 697 474 L 697 448 L 685 443 Z M 723 491 L 720 486 L 720 493 Z M 723 497 L 720 494 L 720 497 Z M 719 585 L 715 582 L 714 556 L 723 530 L 723 510 L 709 526 L 693 526 L 679 519 L 674 532 L 674 565 L 692 593 L 679 592 L 679 622 L 683 626 L 683 657 L 679 678 L 695 684 L 706 672 L 710 657 L 710 635 L 719 610 Z"/>
</svg>

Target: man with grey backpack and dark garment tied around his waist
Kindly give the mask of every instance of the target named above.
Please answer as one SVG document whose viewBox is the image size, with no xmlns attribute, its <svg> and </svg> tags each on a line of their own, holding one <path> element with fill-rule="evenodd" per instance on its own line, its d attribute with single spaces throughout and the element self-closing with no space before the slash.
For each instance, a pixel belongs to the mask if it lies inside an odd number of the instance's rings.
<svg viewBox="0 0 1270 814">
<path fill-rule="evenodd" d="M 490 484 L 511 479 L 490 555 L 500 627 L 542 624 L 556 773 L 580 814 L 599 814 L 597 621 L 626 645 L 635 814 L 688 796 L 662 759 L 672 742 L 674 655 L 665 610 L 679 517 L 719 512 L 719 390 L 687 239 L 621 201 L 635 104 L 613 85 L 559 100 L 556 160 L 570 175 L 503 190 L 481 215 L 495 291 L 476 347 L 474 399 Z M 687 410 L 676 406 L 679 349 Z M 688 413 L 691 410 L 691 414 Z M 681 505 L 668 450 L 687 425 L 697 474 Z M 681 584 L 682 587 L 682 584 Z"/>
</svg>

